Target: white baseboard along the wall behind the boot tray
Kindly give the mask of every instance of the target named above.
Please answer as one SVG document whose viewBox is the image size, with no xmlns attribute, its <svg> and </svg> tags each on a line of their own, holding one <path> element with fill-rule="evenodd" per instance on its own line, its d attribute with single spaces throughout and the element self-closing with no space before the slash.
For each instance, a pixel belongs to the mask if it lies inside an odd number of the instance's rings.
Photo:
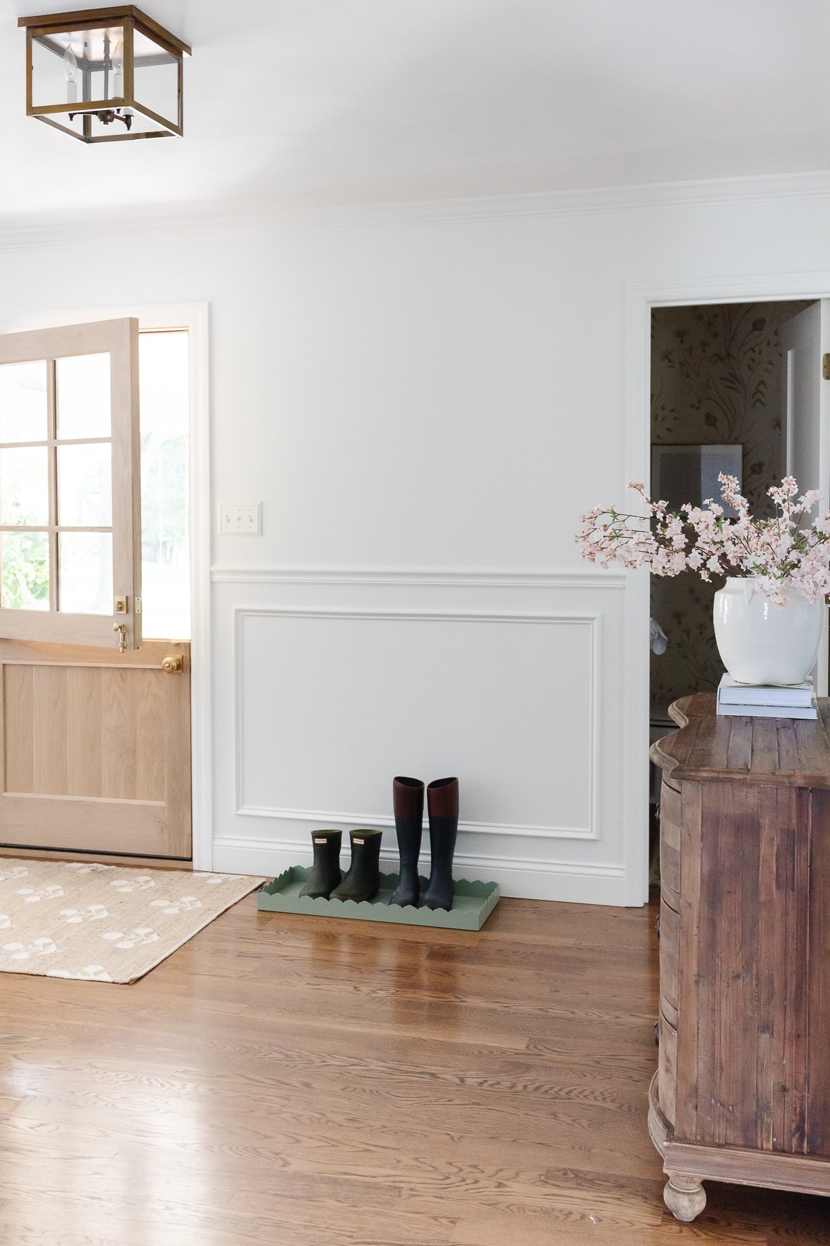
<svg viewBox="0 0 830 1246">
<path fill-rule="evenodd" d="M 347 839 L 347 837 L 346 837 Z M 347 851 L 345 857 L 347 856 Z M 345 858 L 343 857 L 343 858 Z M 290 865 L 310 865 L 311 851 L 305 844 L 286 840 L 241 839 L 219 836 L 213 844 L 213 868 L 219 873 L 261 873 L 269 877 Z M 397 865 L 393 849 L 382 852 L 381 866 Z M 429 857 L 422 857 L 422 871 L 429 868 Z M 576 905 L 630 903 L 626 895 L 626 871 L 622 865 L 572 861 L 535 861 L 459 854 L 455 877 L 484 878 L 499 883 L 503 896 L 525 900 L 554 900 Z"/>
</svg>

